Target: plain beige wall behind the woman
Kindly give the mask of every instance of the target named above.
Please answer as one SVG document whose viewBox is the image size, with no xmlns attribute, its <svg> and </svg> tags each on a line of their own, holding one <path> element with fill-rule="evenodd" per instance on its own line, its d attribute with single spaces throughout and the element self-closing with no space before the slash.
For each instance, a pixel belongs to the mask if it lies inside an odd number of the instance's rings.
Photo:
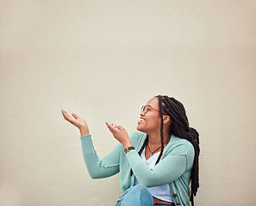
<svg viewBox="0 0 256 206">
<path fill-rule="evenodd" d="M 255 205 L 256 2 L 0 0 L 0 205 L 114 205 L 119 176 L 92 180 L 79 133 L 100 157 L 105 121 L 136 128 L 157 94 L 200 132 L 196 205 Z"/>
</svg>

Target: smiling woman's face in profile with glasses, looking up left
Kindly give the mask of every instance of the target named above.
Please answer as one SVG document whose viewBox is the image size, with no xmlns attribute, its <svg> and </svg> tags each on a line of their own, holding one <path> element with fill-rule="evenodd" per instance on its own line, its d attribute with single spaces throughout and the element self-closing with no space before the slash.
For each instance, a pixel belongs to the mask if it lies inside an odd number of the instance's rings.
<svg viewBox="0 0 256 206">
<path fill-rule="evenodd" d="M 140 120 L 137 125 L 137 130 L 145 133 L 159 132 L 161 125 L 161 118 L 159 115 L 159 99 L 154 97 L 147 101 L 147 113 L 140 112 Z"/>
</svg>

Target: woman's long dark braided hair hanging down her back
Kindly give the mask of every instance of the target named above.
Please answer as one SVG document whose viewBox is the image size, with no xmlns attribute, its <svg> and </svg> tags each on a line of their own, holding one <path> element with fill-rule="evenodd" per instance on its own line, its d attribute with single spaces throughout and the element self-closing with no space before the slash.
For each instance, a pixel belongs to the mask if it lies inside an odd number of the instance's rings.
<svg viewBox="0 0 256 206">
<path fill-rule="evenodd" d="M 190 127 L 188 118 L 186 116 L 186 112 L 184 109 L 184 106 L 181 102 L 178 100 L 175 100 L 173 97 L 168 96 L 155 96 L 159 99 L 159 115 L 161 118 L 161 126 L 160 126 L 160 136 L 161 136 L 161 152 L 159 154 L 159 158 L 156 161 L 156 164 L 159 163 L 159 160 L 163 154 L 164 151 L 164 135 L 163 135 L 163 113 L 167 114 L 172 121 L 171 127 L 170 127 L 170 134 L 174 136 L 178 136 L 179 138 L 186 139 L 189 141 L 194 149 L 195 149 L 195 158 L 193 167 L 190 174 L 190 202 L 192 206 L 194 206 L 194 196 L 197 195 L 197 189 L 199 187 L 199 176 L 198 176 L 198 156 L 200 152 L 199 148 L 199 134 L 197 130 Z M 143 143 L 142 147 L 140 148 L 139 155 L 142 153 L 143 148 L 147 146 L 148 143 L 148 136 L 145 139 L 145 142 Z M 132 174 L 132 171 L 131 171 Z"/>
</svg>

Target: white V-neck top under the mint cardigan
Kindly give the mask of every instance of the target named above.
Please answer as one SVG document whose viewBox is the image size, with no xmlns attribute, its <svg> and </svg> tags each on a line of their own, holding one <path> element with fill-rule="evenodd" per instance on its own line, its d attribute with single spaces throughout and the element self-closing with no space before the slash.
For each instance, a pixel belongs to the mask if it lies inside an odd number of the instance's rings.
<svg viewBox="0 0 256 206">
<path fill-rule="evenodd" d="M 159 158 L 159 154 L 160 154 L 160 152 L 155 153 L 146 160 L 145 148 L 143 148 L 142 153 L 140 154 L 140 157 L 141 157 L 142 161 L 146 162 L 148 167 L 153 168 L 156 161 Z M 139 185 L 139 184 L 140 184 L 139 180 L 136 179 L 136 177 L 134 177 L 134 185 Z M 153 197 L 173 203 L 169 184 L 148 187 L 147 189 L 150 191 L 150 193 L 152 194 Z"/>
</svg>

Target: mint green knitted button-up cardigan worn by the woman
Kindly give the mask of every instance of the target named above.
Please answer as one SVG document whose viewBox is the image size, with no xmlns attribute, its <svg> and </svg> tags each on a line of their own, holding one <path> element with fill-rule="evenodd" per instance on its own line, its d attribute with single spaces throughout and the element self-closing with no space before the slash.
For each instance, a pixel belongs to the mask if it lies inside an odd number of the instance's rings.
<svg viewBox="0 0 256 206">
<path fill-rule="evenodd" d="M 92 179 L 102 179 L 120 173 L 122 192 L 134 185 L 134 175 L 140 184 L 147 187 L 169 184 L 172 199 L 176 205 L 190 205 L 190 172 L 194 161 L 194 148 L 187 140 L 171 137 L 161 157 L 152 169 L 143 162 L 138 154 L 147 134 L 136 131 L 129 135 L 135 148 L 128 154 L 123 153 L 121 143 L 100 160 L 93 147 L 91 135 L 81 136 L 84 162 Z M 130 170 L 133 175 L 130 176 Z M 120 198 L 120 197 L 119 197 Z"/>
</svg>

